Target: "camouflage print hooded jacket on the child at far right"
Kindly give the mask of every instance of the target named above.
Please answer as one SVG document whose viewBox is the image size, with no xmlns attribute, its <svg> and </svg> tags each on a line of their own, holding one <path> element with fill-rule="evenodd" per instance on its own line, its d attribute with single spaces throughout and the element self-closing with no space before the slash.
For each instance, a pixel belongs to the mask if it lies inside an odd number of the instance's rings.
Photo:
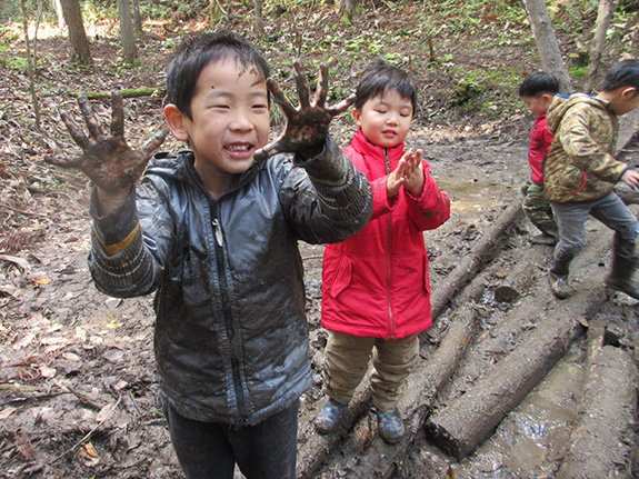
<svg viewBox="0 0 639 479">
<path fill-rule="evenodd" d="M 608 102 L 556 96 L 546 119 L 555 134 L 543 169 L 549 201 L 593 201 L 612 191 L 628 167 L 615 159 L 619 118 Z"/>
</svg>

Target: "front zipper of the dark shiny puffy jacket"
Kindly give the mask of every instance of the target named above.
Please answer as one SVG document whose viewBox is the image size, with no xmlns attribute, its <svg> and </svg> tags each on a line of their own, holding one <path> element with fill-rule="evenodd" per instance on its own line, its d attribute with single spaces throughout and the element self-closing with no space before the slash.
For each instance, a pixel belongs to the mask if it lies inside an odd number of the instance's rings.
<svg viewBox="0 0 639 479">
<path fill-rule="evenodd" d="M 233 345 L 234 340 L 234 331 L 233 331 L 233 320 L 232 320 L 232 311 L 230 308 L 229 301 L 229 285 L 227 282 L 227 276 L 224 271 L 224 253 L 223 253 L 223 245 L 224 245 L 224 236 L 222 232 L 222 228 L 220 226 L 220 221 L 218 220 L 218 208 L 213 207 L 213 234 L 216 237 L 216 266 L 218 269 L 218 278 L 220 281 L 220 296 L 222 300 L 222 312 L 224 316 L 224 326 L 227 328 L 227 336 L 229 338 L 229 347 L 231 350 L 231 369 L 233 372 L 233 386 L 236 389 L 236 397 L 238 401 L 238 410 L 241 416 L 244 415 L 244 391 L 242 388 L 242 375 L 240 372 L 240 361 L 236 353 L 236 348 Z"/>
</svg>

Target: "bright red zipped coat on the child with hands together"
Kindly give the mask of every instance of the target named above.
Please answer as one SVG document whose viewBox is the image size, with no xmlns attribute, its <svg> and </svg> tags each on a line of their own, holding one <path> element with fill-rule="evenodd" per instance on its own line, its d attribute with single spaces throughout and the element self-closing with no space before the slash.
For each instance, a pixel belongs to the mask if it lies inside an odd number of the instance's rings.
<svg viewBox="0 0 639 479">
<path fill-rule="evenodd" d="M 343 149 L 371 183 L 373 212 L 356 236 L 327 245 L 322 271 L 322 326 L 373 338 L 403 338 L 430 328 L 428 255 L 421 231 L 450 218 L 450 200 L 430 177 L 420 198 L 403 187 L 388 198 L 386 179 L 403 154 L 403 143 L 385 149 L 361 130 Z"/>
</svg>

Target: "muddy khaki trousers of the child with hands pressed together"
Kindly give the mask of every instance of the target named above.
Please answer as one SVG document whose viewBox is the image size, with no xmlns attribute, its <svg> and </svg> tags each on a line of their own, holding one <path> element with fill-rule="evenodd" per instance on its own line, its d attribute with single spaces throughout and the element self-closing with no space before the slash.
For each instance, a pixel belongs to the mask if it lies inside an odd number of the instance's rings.
<svg viewBox="0 0 639 479">
<path fill-rule="evenodd" d="M 368 370 L 371 352 L 372 401 L 380 411 L 392 412 L 419 355 L 417 335 L 380 339 L 330 331 L 325 351 L 325 391 L 336 401 L 347 405 Z"/>
</svg>

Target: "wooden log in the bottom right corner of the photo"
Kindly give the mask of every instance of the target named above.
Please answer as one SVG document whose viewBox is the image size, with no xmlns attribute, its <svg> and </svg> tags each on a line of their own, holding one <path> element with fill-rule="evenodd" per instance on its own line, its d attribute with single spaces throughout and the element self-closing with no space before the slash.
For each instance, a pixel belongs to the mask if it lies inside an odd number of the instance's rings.
<svg viewBox="0 0 639 479">
<path fill-rule="evenodd" d="M 557 479 L 636 477 L 631 450 L 637 443 L 638 380 L 627 351 L 595 348 L 577 427 Z"/>
</svg>

